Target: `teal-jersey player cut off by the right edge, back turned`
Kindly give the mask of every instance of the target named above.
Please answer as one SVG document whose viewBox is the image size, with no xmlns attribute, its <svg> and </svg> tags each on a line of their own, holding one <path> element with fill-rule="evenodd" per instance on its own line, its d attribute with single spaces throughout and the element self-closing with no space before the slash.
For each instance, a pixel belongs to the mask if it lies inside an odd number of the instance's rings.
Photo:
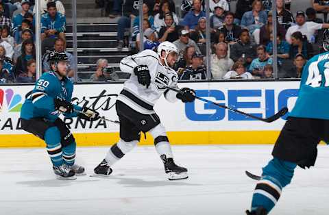
<svg viewBox="0 0 329 215">
<path fill-rule="evenodd" d="M 329 31 L 324 32 L 329 50 Z M 247 214 L 265 215 L 276 205 L 282 189 L 290 184 L 297 166 L 310 168 L 317 158 L 317 144 L 329 142 L 329 52 L 311 58 L 302 72 L 300 91 L 256 185 Z"/>
</svg>

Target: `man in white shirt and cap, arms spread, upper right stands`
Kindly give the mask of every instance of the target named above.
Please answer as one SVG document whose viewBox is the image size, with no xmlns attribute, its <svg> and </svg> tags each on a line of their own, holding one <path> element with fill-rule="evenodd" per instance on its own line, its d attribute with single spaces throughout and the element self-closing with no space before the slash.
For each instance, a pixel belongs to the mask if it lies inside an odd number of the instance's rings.
<svg viewBox="0 0 329 215">
<path fill-rule="evenodd" d="M 296 24 L 287 30 L 286 40 L 291 44 L 291 35 L 296 31 L 300 31 L 307 37 L 308 42 L 315 42 L 315 32 L 319 29 L 329 28 L 329 24 L 319 24 L 314 22 L 306 22 L 304 11 L 298 11 L 296 15 Z"/>
</svg>

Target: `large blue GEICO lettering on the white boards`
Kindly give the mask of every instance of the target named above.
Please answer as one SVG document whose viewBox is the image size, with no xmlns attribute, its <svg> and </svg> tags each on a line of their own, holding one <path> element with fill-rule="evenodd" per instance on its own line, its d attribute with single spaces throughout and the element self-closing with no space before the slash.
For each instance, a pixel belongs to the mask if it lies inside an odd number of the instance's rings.
<svg viewBox="0 0 329 215">
<path fill-rule="evenodd" d="M 284 90 L 195 90 L 198 97 L 215 98 L 217 103 L 230 106 L 235 109 L 243 109 L 244 112 L 258 117 L 269 117 L 284 107 L 291 106 L 293 99 L 297 98 L 297 89 Z M 292 99 L 289 101 L 289 99 Z M 294 105 L 294 104 L 293 104 Z M 250 112 L 248 108 L 252 108 Z M 193 103 L 185 103 L 186 117 L 191 121 L 221 121 L 226 116 L 228 121 L 254 121 L 254 119 L 231 112 L 211 103 L 203 103 L 195 100 Z M 287 118 L 287 115 L 282 117 Z"/>
</svg>

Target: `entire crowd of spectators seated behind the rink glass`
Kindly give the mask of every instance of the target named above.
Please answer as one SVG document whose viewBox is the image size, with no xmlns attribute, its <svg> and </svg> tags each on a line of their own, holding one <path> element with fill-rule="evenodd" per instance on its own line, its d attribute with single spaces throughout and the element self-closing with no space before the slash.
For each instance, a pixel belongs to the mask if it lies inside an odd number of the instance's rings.
<svg viewBox="0 0 329 215">
<path fill-rule="evenodd" d="M 65 8 L 59 0 L 40 1 L 42 71 L 49 71 L 49 50 L 65 52 L 69 77 L 74 76 L 75 58 L 66 51 Z M 276 1 L 278 75 L 301 77 L 303 66 L 319 53 L 321 34 L 329 24 L 319 13 L 329 12 L 329 1 L 313 0 L 313 7 L 293 14 L 291 1 L 237 0 L 232 11 L 229 0 L 209 0 L 206 18 L 204 0 L 144 0 L 139 14 L 138 0 L 112 0 L 108 16 L 118 17 L 117 49 L 132 53 L 153 49 L 170 41 L 181 51 L 175 64 L 181 80 L 271 79 L 273 78 L 273 12 Z M 108 5 L 106 1 L 97 0 Z M 33 82 L 36 79 L 35 12 L 32 0 L 0 0 L 0 81 Z M 143 19 L 143 41 L 139 21 Z M 210 32 L 207 34 L 207 22 Z M 128 35 L 128 36 L 127 36 Z M 207 38 L 207 35 L 210 38 Z M 206 68 L 207 40 L 210 41 L 210 73 Z M 89 81 L 119 79 L 106 59 L 99 59 Z"/>
</svg>

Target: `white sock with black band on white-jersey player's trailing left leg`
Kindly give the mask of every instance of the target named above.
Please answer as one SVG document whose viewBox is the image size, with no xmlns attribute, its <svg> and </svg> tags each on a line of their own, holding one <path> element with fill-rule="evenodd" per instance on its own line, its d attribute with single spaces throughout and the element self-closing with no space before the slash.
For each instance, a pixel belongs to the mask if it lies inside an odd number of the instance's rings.
<svg viewBox="0 0 329 215">
<path fill-rule="evenodd" d="M 108 153 L 106 154 L 105 160 L 110 166 L 115 162 L 120 160 L 126 153 L 132 151 L 136 147 L 138 141 L 132 140 L 130 142 L 125 142 L 124 140 L 119 140 L 116 144 L 112 145 Z"/>
</svg>

